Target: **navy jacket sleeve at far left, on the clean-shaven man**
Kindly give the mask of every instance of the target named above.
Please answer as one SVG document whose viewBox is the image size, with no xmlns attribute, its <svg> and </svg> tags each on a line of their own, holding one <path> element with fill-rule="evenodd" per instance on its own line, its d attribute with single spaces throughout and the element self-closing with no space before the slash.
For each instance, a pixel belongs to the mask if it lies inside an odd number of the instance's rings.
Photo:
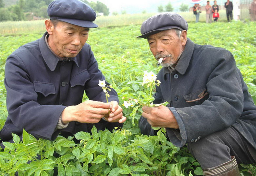
<svg viewBox="0 0 256 176">
<path fill-rule="evenodd" d="M 15 54 L 7 58 L 4 83 L 9 118 L 15 126 L 9 130 L 19 134 L 24 128 L 35 137 L 48 140 L 57 137 L 59 130 L 54 129 L 65 106 L 37 102 L 37 93 L 26 66 Z"/>
</svg>

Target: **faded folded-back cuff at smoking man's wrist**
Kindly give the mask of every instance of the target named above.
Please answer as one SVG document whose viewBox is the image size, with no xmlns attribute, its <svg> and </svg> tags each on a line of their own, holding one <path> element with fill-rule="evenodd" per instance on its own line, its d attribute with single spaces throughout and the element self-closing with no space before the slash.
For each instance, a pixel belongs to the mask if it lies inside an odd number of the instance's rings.
<svg viewBox="0 0 256 176">
<path fill-rule="evenodd" d="M 166 133 L 173 145 L 175 145 L 176 147 L 183 147 L 187 141 L 184 123 L 181 119 L 181 116 L 178 114 L 177 110 L 174 107 L 168 108 L 170 109 L 175 119 L 177 120 L 179 129 L 166 128 Z"/>
</svg>

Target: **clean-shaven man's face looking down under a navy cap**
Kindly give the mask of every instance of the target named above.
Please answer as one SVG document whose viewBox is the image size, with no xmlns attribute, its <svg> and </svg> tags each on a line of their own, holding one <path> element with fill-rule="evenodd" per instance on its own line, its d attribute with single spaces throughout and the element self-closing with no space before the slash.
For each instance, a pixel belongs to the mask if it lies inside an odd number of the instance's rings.
<svg viewBox="0 0 256 176">
<path fill-rule="evenodd" d="M 48 44 L 60 57 L 75 57 L 87 41 L 88 33 L 89 28 L 60 21 L 52 26 Z"/>
</svg>

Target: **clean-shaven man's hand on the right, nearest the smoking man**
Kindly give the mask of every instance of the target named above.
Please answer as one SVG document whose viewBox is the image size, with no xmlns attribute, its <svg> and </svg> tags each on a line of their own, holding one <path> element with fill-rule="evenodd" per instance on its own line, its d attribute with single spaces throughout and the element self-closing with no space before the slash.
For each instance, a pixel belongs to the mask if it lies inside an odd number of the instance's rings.
<svg viewBox="0 0 256 176">
<path fill-rule="evenodd" d="M 105 119 L 109 122 L 123 123 L 126 121 L 126 117 L 123 116 L 123 109 L 118 105 L 116 101 L 109 102 L 112 105 L 110 113 L 105 114 Z"/>
</svg>

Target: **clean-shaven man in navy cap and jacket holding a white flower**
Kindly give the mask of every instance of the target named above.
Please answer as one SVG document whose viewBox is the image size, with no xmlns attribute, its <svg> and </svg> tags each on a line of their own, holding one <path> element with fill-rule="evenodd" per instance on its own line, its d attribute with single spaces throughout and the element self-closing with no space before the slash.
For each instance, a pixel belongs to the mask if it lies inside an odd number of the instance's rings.
<svg viewBox="0 0 256 176">
<path fill-rule="evenodd" d="M 8 117 L 1 141 L 25 129 L 35 137 L 54 140 L 60 133 L 113 130 L 126 120 L 117 92 L 109 103 L 107 86 L 91 47 L 89 28 L 97 27 L 95 11 L 79 0 L 55 0 L 48 7 L 47 32 L 14 51 L 6 61 Z M 101 81 L 101 84 L 99 84 Z M 82 102 L 84 91 L 90 100 Z M 3 145 L 1 145 L 3 147 Z"/>
</svg>

